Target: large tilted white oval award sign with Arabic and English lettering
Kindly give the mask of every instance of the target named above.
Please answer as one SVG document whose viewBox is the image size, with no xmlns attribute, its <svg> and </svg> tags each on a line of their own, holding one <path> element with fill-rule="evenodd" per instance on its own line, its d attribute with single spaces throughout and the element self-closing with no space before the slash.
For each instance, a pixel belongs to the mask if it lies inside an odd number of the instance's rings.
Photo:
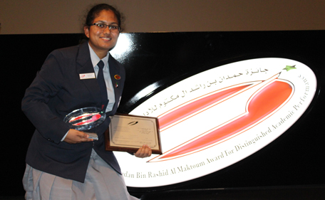
<svg viewBox="0 0 325 200">
<path fill-rule="evenodd" d="M 288 130 L 315 91 L 313 71 L 284 58 L 243 60 L 182 80 L 130 112 L 158 117 L 163 154 L 115 152 L 125 182 L 166 186 L 239 162 Z"/>
</svg>

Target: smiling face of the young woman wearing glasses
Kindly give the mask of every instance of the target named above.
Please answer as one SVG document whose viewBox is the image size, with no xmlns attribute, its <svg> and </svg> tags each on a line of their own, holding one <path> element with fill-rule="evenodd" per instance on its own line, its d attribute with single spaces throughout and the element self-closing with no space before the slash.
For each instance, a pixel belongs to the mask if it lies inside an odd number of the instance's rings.
<svg viewBox="0 0 325 200">
<path fill-rule="evenodd" d="M 93 23 L 97 22 L 119 26 L 118 19 L 113 11 L 100 11 L 99 15 L 93 20 Z M 89 45 L 100 59 L 104 58 L 108 51 L 116 45 L 120 35 L 118 31 L 112 32 L 108 27 L 104 30 L 100 30 L 96 26 L 84 27 L 83 29 L 89 38 Z"/>
</svg>

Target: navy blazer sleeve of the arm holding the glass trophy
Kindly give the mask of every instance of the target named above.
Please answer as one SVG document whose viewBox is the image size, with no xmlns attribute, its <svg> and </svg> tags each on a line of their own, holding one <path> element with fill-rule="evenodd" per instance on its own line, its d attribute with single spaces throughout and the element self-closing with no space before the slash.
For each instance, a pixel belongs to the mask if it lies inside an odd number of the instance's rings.
<svg viewBox="0 0 325 200">
<path fill-rule="evenodd" d="M 55 143 L 61 142 L 69 127 L 48 107 L 48 101 L 63 87 L 63 56 L 60 51 L 53 51 L 33 83 L 26 89 L 21 108 L 41 135 Z"/>
</svg>

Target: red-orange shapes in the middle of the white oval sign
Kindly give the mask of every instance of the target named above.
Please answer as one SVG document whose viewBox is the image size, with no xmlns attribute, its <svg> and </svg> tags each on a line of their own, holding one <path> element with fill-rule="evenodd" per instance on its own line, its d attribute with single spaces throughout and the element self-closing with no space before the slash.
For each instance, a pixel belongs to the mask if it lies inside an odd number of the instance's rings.
<svg viewBox="0 0 325 200">
<path fill-rule="evenodd" d="M 168 152 L 165 152 L 165 154 L 158 156 L 158 159 L 173 159 L 175 157 L 182 157 L 187 154 L 194 153 L 195 151 L 197 152 L 201 151 L 202 149 L 207 149 L 208 147 L 216 145 L 218 142 L 220 143 L 221 140 L 227 139 L 227 137 L 229 137 L 229 140 L 230 137 L 237 136 L 238 132 L 244 132 L 250 127 L 264 121 L 266 119 L 265 117 L 273 115 L 274 113 L 272 112 L 283 106 L 284 103 L 287 102 L 289 98 L 291 98 L 294 91 L 292 85 L 274 77 L 268 80 L 269 85 L 266 85 L 264 88 L 257 90 L 257 92 L 254 93 L 251 98 L 249 98 L 247 101 L 247 111 L 245 115 L 242 115 L 242 117 L 239 117 L 232 122 L 219 125 L 211 132 L 203 133 L 197 138 L 185 142 L 184 144 L 181 144 L 180 146 L 175 147 Z M 222 93 L 215 94 L 215 100 L 213 100 L 212 97 L 209 97 L 206 99 L 197 100 L 193 102 L 192 105 L 187 106 L 191 107 L 192 110 L 200 110 L 202 107 L 209 105 L 213 101 L 222 100 L 222 98 L 227 98 L 227 95 L 232 95 L 233 93 L 245 90 L 244 88 L 247 86 L 249 85 L 225 90 Z M 165 118 L 162 120 L 162 125 L 165 126 L 171 124 L 172 122 L 175 122 L 175 120 L 180 120 L 181 118 L 185 117 L 188 113 L 192 112 L 188 111 L 188 107 L 179 109 L 179 112 L 176 110 L 170 113 L 169 115 L 172 116 L 170 117 L 170 122 L 167 122 L 168 120 L 165 120 L 168 119 L 168 115 L 165 115 Z M 176 115 L 176 113 L 180 114 L 180 116 L 173 116 Z"/>
</svg>

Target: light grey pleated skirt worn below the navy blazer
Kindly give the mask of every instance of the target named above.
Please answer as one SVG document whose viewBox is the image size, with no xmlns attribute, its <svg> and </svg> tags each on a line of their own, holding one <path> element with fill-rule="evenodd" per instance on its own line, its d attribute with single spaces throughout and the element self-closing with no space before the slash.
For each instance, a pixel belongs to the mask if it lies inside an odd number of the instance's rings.
<svg viewBox="0 0 325 200">
<path fill-rule="evenodd" d="M 135 200 L 124 178 L 93 150 L 84 183 L 41 172 L 26 164 L 25 199 L 33 200 Z"/>
</svg>

